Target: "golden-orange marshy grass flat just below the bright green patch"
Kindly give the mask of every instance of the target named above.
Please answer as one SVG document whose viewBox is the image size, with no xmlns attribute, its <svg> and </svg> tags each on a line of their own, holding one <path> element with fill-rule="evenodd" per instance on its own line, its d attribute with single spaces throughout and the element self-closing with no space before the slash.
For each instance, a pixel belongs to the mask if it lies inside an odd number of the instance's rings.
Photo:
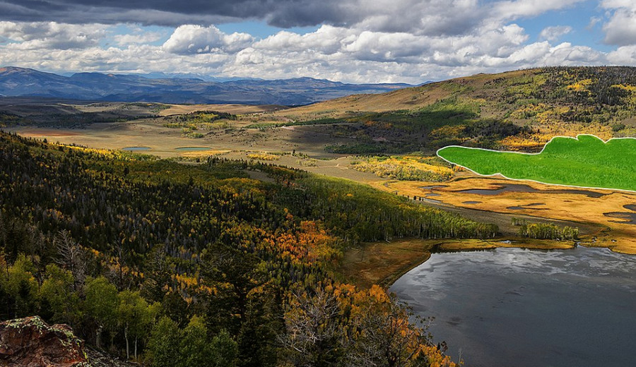
<svg viewBox="0 0 636 367">
<path fill-rule="evenodd" d="M 483 213 L 484 218 L 488 218 L 490 213 L 500 213 L 508 218 L 538 222 L 548 220 L 579 227 L 580 241 L 584 246 L 607 247 L 620 253 L 636 254 L 636 193 L 570 188 L 472 174 L 438 185 L 384 181 L 374 186 L 411 197 L 425 197 L 437 206 L 449 205 L 466 213 Z M 505 230 L 502 224 L 500 228 Z"/>
</svg>

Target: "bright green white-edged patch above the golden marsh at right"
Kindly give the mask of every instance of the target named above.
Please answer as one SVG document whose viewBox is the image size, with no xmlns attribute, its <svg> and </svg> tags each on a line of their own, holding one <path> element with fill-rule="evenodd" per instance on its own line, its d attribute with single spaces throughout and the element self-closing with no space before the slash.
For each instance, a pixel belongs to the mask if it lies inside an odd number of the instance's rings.
<svg viewBox="0 0 636 367">
<path fill-rule="evenodd" d="M 636 191 L 636 139 L 603 142 L 592 135 L 557 137 L 538 154 L 449 146 L 437 155 L 483 175 Z"/>
</svg>

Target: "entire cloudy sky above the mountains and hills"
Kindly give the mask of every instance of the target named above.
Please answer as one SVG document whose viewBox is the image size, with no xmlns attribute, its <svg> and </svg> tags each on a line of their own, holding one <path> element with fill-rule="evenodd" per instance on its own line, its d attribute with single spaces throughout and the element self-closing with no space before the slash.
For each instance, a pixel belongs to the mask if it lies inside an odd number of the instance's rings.
<svg viewBox="0 0 636 367">
<path fill-rule="evenodd" d="M 635 0 L 0 0 L 0 66 L 412 83 L 636 66 Z"/>
</svg>

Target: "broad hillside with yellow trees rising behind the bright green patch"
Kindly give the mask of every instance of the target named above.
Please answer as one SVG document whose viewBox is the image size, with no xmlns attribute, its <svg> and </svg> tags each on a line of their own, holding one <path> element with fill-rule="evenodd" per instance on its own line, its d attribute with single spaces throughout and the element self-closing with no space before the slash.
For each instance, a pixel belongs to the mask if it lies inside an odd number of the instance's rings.
<svg viewBox="0 0 636 367">
<path fill-rule="evenodd" d="M 553 136 L 636 136 L 635 105 L 636 68 L 550 67 L 354 95 L 273 116 L 293 121 L 288 124 L 335 124 L 331 133 L 355 134 L 358 141 L 335 147 L 338 152 L 431 151 L 453 144 L 536 151 Z"/>
</svg>

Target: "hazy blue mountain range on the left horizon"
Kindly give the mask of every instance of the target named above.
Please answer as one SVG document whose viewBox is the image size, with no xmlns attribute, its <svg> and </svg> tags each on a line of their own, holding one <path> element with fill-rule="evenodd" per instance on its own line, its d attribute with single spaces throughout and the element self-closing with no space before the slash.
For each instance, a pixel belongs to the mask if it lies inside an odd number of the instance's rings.
<svg viewBox="0 0 636 367">
<path fill-rule="evenodd" d="M 240 103 L 298 106 L 353 94 L 375 94 L 412 87 L 397 84 L 346 84 L 313 78 L 285 80 L 203 80 L 192 75 L 76 73 L 61 76 L 30 68 L 0 68 L 0 97 L 163 103 Z"/>
</svg>

